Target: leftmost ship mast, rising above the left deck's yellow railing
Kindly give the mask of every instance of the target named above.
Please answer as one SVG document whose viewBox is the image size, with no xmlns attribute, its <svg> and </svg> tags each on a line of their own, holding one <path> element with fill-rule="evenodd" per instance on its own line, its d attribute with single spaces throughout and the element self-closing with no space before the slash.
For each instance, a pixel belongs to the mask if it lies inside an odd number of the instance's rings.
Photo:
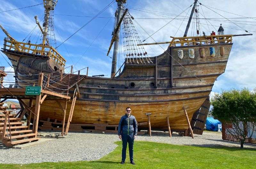
<svg viewBox="0 0 256 169">
<path fill-rule="evenodd" d="M 48 34 L 48 27 L 49 27 L 49 18 L 50 18 L 50 11 L 54 10 L 54 7 L 57 4 L 58 0 L 43 0 L 44 1 L 44 30 L 43 30 L 43 42 L 42 44 L 45 45 L 45 41 L 47 40 Z"/>
</svg>

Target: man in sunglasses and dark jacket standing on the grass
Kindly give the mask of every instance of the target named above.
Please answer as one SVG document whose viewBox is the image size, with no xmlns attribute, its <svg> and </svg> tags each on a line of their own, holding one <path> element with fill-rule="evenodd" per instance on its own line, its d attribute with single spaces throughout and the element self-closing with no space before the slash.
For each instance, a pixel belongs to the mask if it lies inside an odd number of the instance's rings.
<svg viewBox="0 0 256 169">
<path fill-rule="evenodd" d="M 129 143 L 129 155 L 131 164 L 135 165 L 133 161 L 133 142 L 137 136 L 138 125 L 135 117 L 131 115 L 131 107 L 126 107 L 126 114 L 121 117 L 118 125 L 118 136 L 123 141 L 122 149 L 122 161 L 121 164 L 124 164 L 126 158 L 126 148 L 127 142 Z"/>
</svg>

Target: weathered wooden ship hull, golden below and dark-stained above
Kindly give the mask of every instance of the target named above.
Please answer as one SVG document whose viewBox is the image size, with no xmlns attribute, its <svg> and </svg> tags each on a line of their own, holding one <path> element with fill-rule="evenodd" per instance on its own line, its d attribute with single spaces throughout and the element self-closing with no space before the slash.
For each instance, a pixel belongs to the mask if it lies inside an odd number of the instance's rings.
<svg viewBox="0 0 256 169">
<path fill-rule="evenodd" d="M 210 55 L 210 47 L 215 48 L 215 57 Z M 220 54 L 222 47 L 224 54 Z M 131 107 L 138 123 L 147 122 L 146 113 L 152 113 L 152 128 L 167 127 L 169 116 L 171 129 L 188 129 L 183 107 L 191 121 L 217 77 L 224 73 L 231 47 L 232 43 L 170 47 L 162 55 L 151 57 L 153 64 L 125 64 L 115 78 L 85 77 L 78 84 L 81 97 L 76 100 L 71 123 L 117 125 L 125 108 Z M 205 57 L 200 57 L 200 48 L 205 48 Z M 188 49 L 194 49 L 194 58 L 189 57 Z M 178 50 L 183 50 L 182 59 L 178 57 Z M 75 87 L 70 89 L 70 96 L 74 90 Z M 28 100 L 24 101 L 28 104 Z M 70 106 L 71 101 L 66 122 Z M 45 100 L 41 105 L 40 120 L 48 118 L 63 119 L 63 112 L 53 100 Z"/>
</svg>

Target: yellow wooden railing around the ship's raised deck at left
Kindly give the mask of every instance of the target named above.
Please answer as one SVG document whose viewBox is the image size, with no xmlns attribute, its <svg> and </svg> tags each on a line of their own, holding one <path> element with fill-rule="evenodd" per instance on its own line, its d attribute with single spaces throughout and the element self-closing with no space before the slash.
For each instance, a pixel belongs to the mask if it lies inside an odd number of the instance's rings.
<svg viewBox="0 0 256 169">
<path fill-rule="evenodd" d="M 64 67 L 66 64 L 64 57 L 62 57 L 52 46 L 24 43 L 14 40 L 4 40 L 4 48 L 24 53 L 48 56 L 61 67 Z"/>
</svg>

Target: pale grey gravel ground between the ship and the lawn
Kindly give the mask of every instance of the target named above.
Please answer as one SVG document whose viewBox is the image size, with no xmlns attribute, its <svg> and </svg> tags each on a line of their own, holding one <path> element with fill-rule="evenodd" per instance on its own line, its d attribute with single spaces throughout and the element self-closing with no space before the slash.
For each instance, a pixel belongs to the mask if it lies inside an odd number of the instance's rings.
<svg viewBox="0 0 256 169">
<path fill-rule="evenodd" d="M 0 163 L 41 163 L 59 161 L 90 161 L 96 160 L 113 151 L 117 145 L 114 143 L 119 138 L 116 134 L 96 133 L 68 133 L 65 138 L 46 141 L 26 149 L 9 149 L 0 143 Z M 179 145 L 193 145 L 203 147 L 240 147 L 239 143 L 223 141 L 217 132 L 204 132 L 191 137 L 179 136 L 173 133 L 172 138 L 168 132 L 152 132 L 152 136 L 137 136 L 136 140 Z M 244 147 L 255 148 L 256 145 L 244 144 Z M 18 158 L 17 158 L 18 157 Z M 13 159 L 16 159 L 15 161 Z"/>
</svg>

